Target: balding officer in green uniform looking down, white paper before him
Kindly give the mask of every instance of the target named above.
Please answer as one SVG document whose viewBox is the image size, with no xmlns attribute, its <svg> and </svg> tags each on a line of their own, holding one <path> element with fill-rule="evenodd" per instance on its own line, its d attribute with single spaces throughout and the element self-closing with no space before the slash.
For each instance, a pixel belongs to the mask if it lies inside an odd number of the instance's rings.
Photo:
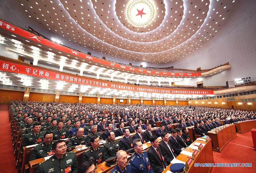
<svg viewBox="0 0 256 173">
<path fill-rule="evenodd" d="M 82 148 L 86 144 L 86 136 L 83 135 L 84 133 L 83 127 L 79 127 L 76 133 L 77 133 L 76 136 L 69 139 L 67 148 L 70 148 L 70 147 Z"/>
</svg>

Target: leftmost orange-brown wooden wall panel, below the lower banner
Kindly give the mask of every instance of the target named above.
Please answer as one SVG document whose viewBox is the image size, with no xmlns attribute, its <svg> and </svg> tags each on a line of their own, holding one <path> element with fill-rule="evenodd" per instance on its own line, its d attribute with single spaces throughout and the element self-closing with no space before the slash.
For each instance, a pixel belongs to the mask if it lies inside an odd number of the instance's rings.
<svg viewBox="0 0 256 173">
<path fill-rule="evenodd" d="M 10 100 L 23 101 L 24 91 L 0 90 L 0 103 L 7 104 Z"/>
</svg>

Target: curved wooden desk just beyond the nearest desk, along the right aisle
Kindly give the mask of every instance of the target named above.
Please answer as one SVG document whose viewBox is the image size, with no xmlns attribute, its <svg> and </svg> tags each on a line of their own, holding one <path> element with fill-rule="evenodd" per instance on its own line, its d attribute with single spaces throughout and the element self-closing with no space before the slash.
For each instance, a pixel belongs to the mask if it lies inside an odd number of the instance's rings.
<svg viewBox="0 0 256 173">
<path fill-rule="evenodd" d="M 209 131 L 208 136 L 212 139 L 213 151 L 221 152 L 229 141 L 236 137 L 235 125 L 225 125 L 219 132 L 215 133 Z"/>
</svg>

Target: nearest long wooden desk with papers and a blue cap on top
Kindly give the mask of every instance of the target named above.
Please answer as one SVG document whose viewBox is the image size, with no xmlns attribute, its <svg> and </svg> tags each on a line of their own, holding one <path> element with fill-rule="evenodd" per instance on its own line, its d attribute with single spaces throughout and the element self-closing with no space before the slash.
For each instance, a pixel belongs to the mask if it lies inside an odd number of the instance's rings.
<svg viewBox="0 0 256 173">
<path fill-rule="evenodd" d="M 195 140 L 195 142 L 200 142 L 205 145 L 201 149 L 201 151 L 198 153 L 195 160 L 192 160 L 192 164 L 186 173 L 210 173 L 212 167 L 195 167 L 194 163 L 214 163 L 211 139 L 208 142 L 203 142 L 199 140 Z M 193 145 L 195 142 L 193 142 L 191 145 Z M 186 151 L 192 152 L 193 150 L 191 148 L 186 148 Z M 176 157 L 176 159 L 186 162 L 186 160 L 188 159 L 188 156 L 184 154 L 180 154 L 179 156 Z M 170 171 L 171 165 L 172 163 L 170 163 L 170 165 L 167 166 L 167 168 L 162 173 L 166 173 L 167 170 Z"/>
</svg>

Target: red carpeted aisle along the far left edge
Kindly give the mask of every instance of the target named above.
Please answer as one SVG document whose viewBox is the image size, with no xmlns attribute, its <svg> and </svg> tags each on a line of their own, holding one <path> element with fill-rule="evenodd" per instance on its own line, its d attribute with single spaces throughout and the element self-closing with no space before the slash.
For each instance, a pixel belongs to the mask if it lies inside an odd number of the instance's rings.
<svg viewBox="0 0 256 173">
<path fill-rule="evenodd" d="M 1 141 L 0 141 L 0 172 L 8 173 L 17 173 L 16 161 L 14 157 L 14 152 L 11 142 L 11 129 L 8 117 L 8 105 L 0 104 L 0 132 L 1 132 Z"/>
</svg>

